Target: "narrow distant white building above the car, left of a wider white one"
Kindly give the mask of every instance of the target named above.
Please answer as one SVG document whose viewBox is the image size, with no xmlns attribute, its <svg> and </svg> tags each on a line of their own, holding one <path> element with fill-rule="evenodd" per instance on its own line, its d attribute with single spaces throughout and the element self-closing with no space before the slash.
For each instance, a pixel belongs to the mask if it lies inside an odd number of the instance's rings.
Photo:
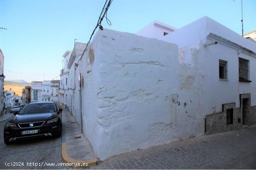
<svg viewBox="0 0 256 170">
<path fill-rule="evenodd" d="M 42 82 L 31 82 L 31 101 L 43 101 Z"/>
</svg>

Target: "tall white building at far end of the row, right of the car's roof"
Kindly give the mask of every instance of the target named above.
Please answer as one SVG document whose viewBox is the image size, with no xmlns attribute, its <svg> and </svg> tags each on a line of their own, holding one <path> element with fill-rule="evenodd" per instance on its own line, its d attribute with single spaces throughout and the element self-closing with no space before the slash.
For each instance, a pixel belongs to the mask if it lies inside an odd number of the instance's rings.
<svg viewBox="0 0 256 170">
<path fill-rule="evenodd" d="M 69 76 L 69 69 L 67 69 L 67 64 L 69 62 L 69 59 L 71 57 L 72 51 L 67 51 L 63 55 L 64 59 L 62 60 L 62 69 L 61 69 L 61 80 L 60 80 L 60 96 L 59 96 L 59 101 L 60 105 L 62 108 L 65 108 L 69 110 L 69 81 L 68 81 L 68 76 Z"/>
</svg>

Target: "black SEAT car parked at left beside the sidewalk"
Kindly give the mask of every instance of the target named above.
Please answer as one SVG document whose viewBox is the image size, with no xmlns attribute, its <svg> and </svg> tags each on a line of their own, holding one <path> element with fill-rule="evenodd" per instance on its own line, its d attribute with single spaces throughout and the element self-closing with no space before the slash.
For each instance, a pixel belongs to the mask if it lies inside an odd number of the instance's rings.
<svg viewBox="0 0 256 170">
<path fill-rule="evenodd" d="M 61 136 L 62 109 L 54 102 L 32 102 L 14 113 L 4 127 L 6 145 L 17 139 Z"/>
</svg>

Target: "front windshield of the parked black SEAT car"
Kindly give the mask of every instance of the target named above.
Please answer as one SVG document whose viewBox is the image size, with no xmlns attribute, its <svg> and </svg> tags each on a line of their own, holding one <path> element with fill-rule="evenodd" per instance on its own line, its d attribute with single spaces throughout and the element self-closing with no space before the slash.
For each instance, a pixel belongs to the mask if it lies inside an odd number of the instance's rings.
<svg viewBox="0 0 256 170">
<path fill-rule="evenodd" d="M 34 103 L 25 105 L 19 114 L 56 112 L 54 103 Z"/>
</svg>

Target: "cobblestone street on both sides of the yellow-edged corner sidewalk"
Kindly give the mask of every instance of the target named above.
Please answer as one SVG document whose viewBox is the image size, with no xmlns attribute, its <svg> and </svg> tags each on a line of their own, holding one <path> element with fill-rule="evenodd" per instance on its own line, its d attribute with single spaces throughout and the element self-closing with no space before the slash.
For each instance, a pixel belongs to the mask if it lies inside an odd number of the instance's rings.
<svg viewBox="0 0 256 170">
<path fill-rule="evenodd" d="M 0 169 L 76 169 L 67 166 L 27 166 L 64 163 L 61 138 L 40 138 L 5 145 L 0 122 Z M 24 166 L 6 166 L 23 162 Z M 256 125 L 237 131 L 149 147 L 110 157 L 86 169 L 256 169 Z"/>
</svg>

